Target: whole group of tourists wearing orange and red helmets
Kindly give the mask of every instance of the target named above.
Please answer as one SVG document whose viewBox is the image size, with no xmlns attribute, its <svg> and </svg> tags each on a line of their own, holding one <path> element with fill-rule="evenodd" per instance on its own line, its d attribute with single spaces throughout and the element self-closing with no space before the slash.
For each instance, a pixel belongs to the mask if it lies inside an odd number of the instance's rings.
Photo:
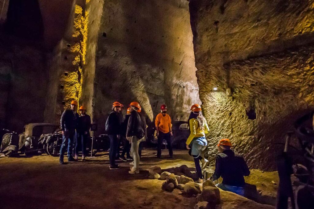
<svg viewBox="0 0 314 209">
<path fill-rule="evenodd" d="M 62 145 L 60 148 L 60 164 L 64 164 L 63 155 L 65 152 L 65 144 L 68 140 L 68 161 L 78 160 L 78 145 L 82 145 L 82 160 L 85 159 L 85 144 L 89 137 L 90 117 L 86 114 L 86 108 L 81 106 L 79 108 L 80 115 L 77 113 L 78 103 L 71 102 L 71 108 L 65 110 L 61 116 L 62 128 Z M 106 120 L 106 132 L 110 138 L 109 161 L 110 169 L 119 169 L 116 164 L 116 159 L 123 161 L 133 159 L 130 165 L 130 174 L 139 173 L 139 165 L 142 144 L 146 141 L 146 120 L 142 114 L 142 108 L 138 102 L 131 102 L 127 109 L 127 115 L 123 119 L 122 115 L 123 105 L 120 102 L 112 104 L 112 112 Z M 190 128 L 190 135 L 186 141 L 186 147 L 189 154 L 193 157 L 196 173 L 198 175 L 198 183 L 203 183 L 202 170 L 208 165 L 208 160 L 203 158 L 201 154 L 207 147 L 207 140 L 205 134 L 209 133 L 208 124 L 202 114 L 201 106 L 198 104 L 192 105 L 191 113 L 188 118 Z M 155 119 L 156 135 L 158 137 L 157 157 L 161 158 L 161 145 L 165 139 L 168 144 L 169 155 L 173 158 L 172 152 L 172 125 L 171 118 L 167 114 L 166 105 L 161 105 L 160 113 Z M 77 134 L 77 135 L 76 135 Z M 76 137 L 77 136 L 77 137 Z M 76 140 L 75 156 L 72 157 L 72 144 Z M 120 150 L 120 145 L 123 144 L 123 149 Z M 131 145 L 131 146 L 130 146 Z M 216 157 L 215 171 L 211 180 L 218 180 L 223 178 L 222 183 L 217 186 L 226 191 L 232 191 L 239 195 L 244 193 L 244 177 L 250 174 L 246 162 L 240 154 L 231 150 L 232 144 L 229 139 L 221 139 L 219 141 L 218 151 Z M 121 153 L 120 153 L 121 151 Z M 130 153 L 132 157 L 130 156 Z M 124 155 L 127 154 L 126 158 Z M 202 163 L 202 167 L 200 165 Z"/>
</svg>

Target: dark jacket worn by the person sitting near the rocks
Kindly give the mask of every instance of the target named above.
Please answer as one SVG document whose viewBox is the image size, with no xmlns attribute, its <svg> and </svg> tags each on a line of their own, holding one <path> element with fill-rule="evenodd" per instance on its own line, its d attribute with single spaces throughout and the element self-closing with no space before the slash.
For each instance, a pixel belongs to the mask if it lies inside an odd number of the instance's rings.
<svg viewBox="0 0 314 209">
<path fill-rule="evenodd" d="M 229 149 L 216 156 L 215 172 L 211 178 L 213 181 L 221 176 L 223 184 L 243 187 L 245 185 L 243 176 L 248 175 L 250 170 L 240 154 Z"/>
</svg>

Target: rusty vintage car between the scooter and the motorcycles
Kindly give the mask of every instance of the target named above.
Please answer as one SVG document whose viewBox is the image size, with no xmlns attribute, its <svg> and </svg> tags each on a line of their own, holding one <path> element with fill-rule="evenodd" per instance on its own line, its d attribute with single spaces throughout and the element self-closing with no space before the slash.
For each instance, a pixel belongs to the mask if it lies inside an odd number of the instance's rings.
<svg viewBox="0 0 314 209">
<path fill-rule="evenodd" d="M 29 123 L 24 126 L 23 133 L 19 134 L 19 151 L 26 155 L 38 154 L 43 150 L 42 138 L 55 133 L 60 126 L 54 123 Z"/>
</svg>

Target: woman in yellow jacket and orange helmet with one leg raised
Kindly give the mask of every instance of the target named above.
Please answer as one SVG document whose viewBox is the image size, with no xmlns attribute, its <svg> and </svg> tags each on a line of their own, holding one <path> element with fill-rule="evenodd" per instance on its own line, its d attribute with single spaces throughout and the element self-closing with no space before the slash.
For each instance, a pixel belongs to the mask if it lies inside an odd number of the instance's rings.
<svg viewBox="0 0 314 209">
<path fill-rule="evenodd" d="M 199 161 L 202 161 L 203 169 L 206 167 L 208 160 L 201 157 L 201 152 L 207 146 L 205 134 L 209 133 L 206 119 L 202 114 L 201 106 L 194 104 L 191 107 L 191 114 L 188 119 L 190 125 L 190 136 L 187 138 L 187 149 L 191 149 L 191 155 L 194 158 L 196 173 L 198 174 L 198 183 L 203 183 L 202 169 Z"/>
</svg>

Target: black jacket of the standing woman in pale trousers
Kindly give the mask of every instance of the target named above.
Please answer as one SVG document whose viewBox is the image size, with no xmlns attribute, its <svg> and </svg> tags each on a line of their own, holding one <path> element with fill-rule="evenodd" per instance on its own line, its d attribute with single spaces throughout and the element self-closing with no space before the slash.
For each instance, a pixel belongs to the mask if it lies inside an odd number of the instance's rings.
<svg viewBox="0 0 314 209">
<path fill-rule="evenodd" d="M 130 118 L 127 122 L 127 137 L 137 136 L 138 139 L 144 136 L 141 117 L 138 112 L 131 112 Z"/>
</svg>

